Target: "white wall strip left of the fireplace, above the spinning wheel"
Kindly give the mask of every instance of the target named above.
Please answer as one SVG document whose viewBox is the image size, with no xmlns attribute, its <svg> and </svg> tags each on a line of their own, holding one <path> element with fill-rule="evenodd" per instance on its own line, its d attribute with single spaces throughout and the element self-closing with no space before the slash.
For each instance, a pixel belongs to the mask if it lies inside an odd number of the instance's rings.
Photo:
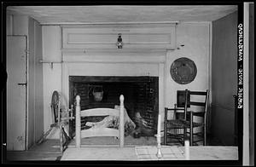
<svg viewBox="0 0 256 167">
<path fill-rule="evenodd" d="M 43 26 L 43 60 L 61 60 L 61 27 Z M 44 132 L 52 124 L 51 95 L 55 90 L 61 91 L 61 64 L 43 64 L 44 68 Z"/>
</svg>

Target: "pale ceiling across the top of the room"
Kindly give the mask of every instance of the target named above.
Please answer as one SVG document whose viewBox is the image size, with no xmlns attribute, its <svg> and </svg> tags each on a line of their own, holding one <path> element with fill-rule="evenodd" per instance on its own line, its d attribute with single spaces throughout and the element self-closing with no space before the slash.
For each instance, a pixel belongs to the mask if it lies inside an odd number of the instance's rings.
<svg viewBox="0 0 256 167">
<path fill-rule="evenodd" d="M 154 23 L 218 20 L 237 10 L 236 5 L 96 5 L 9 6 L 41 24 Z"/>
</svg>

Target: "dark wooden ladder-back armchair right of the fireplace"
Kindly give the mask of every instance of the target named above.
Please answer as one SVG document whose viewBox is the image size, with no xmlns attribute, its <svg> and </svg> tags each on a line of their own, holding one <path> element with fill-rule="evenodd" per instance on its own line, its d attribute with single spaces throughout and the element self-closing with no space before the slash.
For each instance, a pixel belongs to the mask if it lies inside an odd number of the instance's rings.
<svg viewBox="0 0 256 167">
<path fill-rule="evenodd" d="M 203 96 L 203 101 L 195 101 L 194 96 Z M 179 98 L 179 97 L 177 97 Z M 165 128 L 164 128 L 164 145 L 169 145 L 168 139 L 174 138 L 181 141 L 184 145 L 185 139 L 189 135 L 190 146 L 195 145 L 198 141 L 203 141 L 203 145 L 207 145 L 207 109 L 208 109 L 209 90 L 207 91 L 190 91 L 185 90 L 183 102 L 180 101 L 182 107 L 175 105 L 174 108 L 165 107 Z M 196 108 L 191 111 L 191 107 Z M 201 107 L 201 110 L 200 110 Z M 200 111 L 198 111 L 200 110 Z M 168 112 L 173 111 L 174 118 L 168 119 Z M 181 114 L 182 113 L 182 114 Z M 177 115 L 182 115 L 182 118 L 178 118 Z M 194 116 L 201 117 L 203 120 L 201 123 L 195 122 Z M 195 132 L 194 129 L 201 127 L 200 132 Z M 188 132 L 189 130 L 189 132 Z M 195 136 L 198 139 L 195 140 Z"/>
</svg>

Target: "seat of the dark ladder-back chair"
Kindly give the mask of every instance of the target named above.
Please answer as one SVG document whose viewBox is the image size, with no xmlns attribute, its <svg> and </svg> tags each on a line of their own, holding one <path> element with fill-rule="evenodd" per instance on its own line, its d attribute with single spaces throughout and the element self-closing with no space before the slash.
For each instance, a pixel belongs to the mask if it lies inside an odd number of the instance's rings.
<svg viewBox="0 0 256 167">
<path fill-rule="evenodd" d="M 202 126 L 201 123 L 195 123 L 193 122 L 193 127 L 199 127 Z M 167 121 L 167 129 L 183 129 L 183 128 L 189 128 L 190 123 L 189 121 L 183 120 L 183 119 L 172 119 Z"/>
</svg>

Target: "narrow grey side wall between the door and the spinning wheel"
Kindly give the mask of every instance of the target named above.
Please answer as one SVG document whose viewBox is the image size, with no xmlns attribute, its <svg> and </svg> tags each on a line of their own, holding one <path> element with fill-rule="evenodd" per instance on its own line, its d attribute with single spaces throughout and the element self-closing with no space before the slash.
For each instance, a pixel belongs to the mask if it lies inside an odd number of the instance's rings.
<svg viewBox="0 0 256 167">
<path fill-rule="evenodd" d="M 39 60 L 43 58 L 42 26 L 39 25 L 38 21 L 29 18 L 28 32 L 27 135 L 28 147 L 32 147 L 32 145 L 44 135 L 43 65 L 39 63 Z"/>
</svg>

